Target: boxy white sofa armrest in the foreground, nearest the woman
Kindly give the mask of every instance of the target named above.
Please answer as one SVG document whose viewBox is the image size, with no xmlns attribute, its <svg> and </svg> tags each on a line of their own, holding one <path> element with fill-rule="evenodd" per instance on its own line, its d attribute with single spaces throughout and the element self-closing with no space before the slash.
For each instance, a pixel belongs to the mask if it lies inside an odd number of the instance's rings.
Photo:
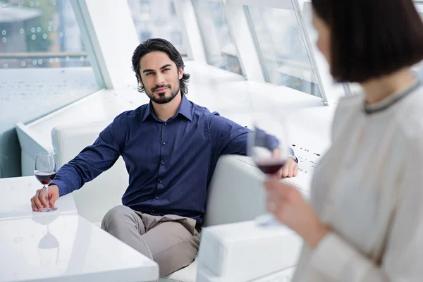
<svg viewBox="0 0 423 282">
<path fill-rule="evenodd" d="M 286 226 L 255 221 L 204 228 L 197 282 L 260 281 L 297 263 L 302 239 Z"/>
</svg>

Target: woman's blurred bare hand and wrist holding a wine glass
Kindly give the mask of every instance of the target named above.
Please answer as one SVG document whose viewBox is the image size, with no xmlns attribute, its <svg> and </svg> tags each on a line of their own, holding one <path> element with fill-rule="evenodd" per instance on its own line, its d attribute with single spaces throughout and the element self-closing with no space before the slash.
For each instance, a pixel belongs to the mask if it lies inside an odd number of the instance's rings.
<svg viewBox="0 0 423 282">
<path fill-rule="evenodd" d="M 319 221 L 312 207 L 292 185 L 274 178 L 264 182 L 267 190 L 267 210 L 300 235 L 314 249 L 331 232 Z"/>
</svg>

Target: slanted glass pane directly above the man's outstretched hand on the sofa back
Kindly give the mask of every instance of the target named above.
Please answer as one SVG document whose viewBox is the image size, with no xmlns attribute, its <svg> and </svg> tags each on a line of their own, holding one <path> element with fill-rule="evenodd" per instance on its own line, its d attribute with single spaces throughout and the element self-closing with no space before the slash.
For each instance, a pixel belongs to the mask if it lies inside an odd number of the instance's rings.
<svg viewBox="0 0 423 282">
<path fill-rule="evenodd" d="M 268 82 L 320 97 L 293 9 L 245 6 Z"/>
</svg>

